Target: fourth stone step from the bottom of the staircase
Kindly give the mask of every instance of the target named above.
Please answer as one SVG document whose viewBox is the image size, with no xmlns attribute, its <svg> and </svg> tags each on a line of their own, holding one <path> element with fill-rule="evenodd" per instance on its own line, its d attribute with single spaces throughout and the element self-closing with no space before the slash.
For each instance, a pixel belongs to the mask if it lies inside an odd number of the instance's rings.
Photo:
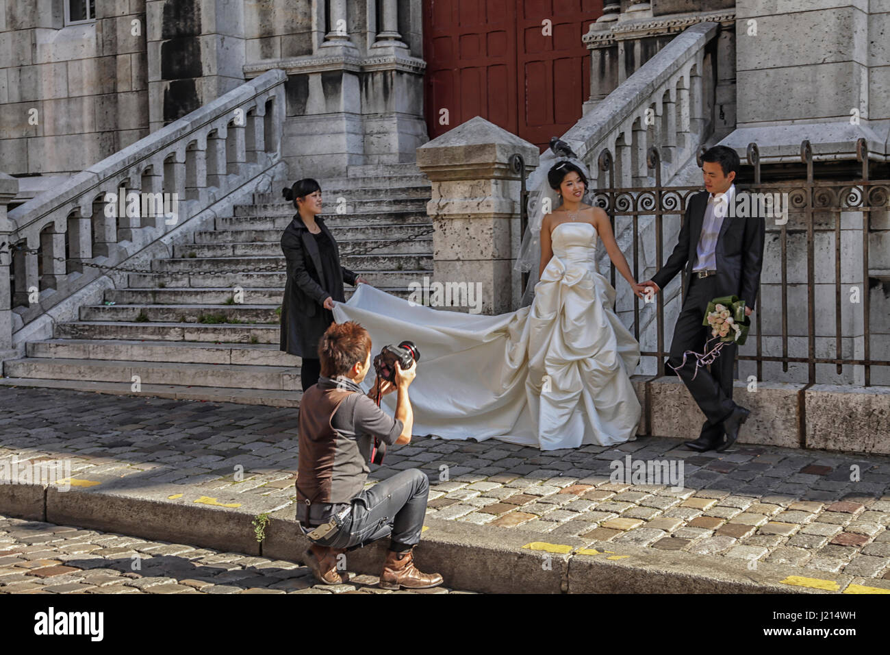
<svg viewBox="0 0 890 655">
<path fill-rule="evenodd" d="M 213 341 L 229 343 L 280 342 L 280 325 L 231 323 L 124 323 L 118 321 L 70 321 L 56 323 L 55 339 L 112 339 L 150 341 Z"/>
</svg>

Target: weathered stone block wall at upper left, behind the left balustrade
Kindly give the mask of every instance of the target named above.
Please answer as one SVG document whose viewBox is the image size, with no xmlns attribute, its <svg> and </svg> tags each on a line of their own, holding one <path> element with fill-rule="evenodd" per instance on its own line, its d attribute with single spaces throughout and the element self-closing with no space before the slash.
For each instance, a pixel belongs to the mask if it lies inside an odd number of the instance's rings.
<svg viewBox="0 0 890 655">
<path fill-rule="evenodd" d="M 0 3 L 0 160 L 12 174 L 75 173 L 149 133 L 145 0 L 97 2 L 95 21 L 68 26 L 63 9 Z"/>
</svg>

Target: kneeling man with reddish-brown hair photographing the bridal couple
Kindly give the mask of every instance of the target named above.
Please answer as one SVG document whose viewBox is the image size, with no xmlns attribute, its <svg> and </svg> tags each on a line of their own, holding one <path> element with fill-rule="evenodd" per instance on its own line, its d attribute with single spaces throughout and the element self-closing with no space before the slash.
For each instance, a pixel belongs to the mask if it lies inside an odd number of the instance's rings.
<svg viewBox="0 0 890 655">
<path fill-rule="evenodd" d="M 438 573 L 414 566 L 413 549 L 424 525 L 429 482 L 418 469 L 400 471 L 365 489 L 372 442 L 408 444 L 414 415 L 408 387 L 417 364 L 396 364 L 395 383 L 377 376 L 366 396 L 359 383 L 371 368 L 371 339 L 359 323 L 333 323 L 319 341 L 321 376 L 300 403 L 296 520 L 312 546 L 304 555 L 321 582 L 336 585 L 337 556 L 391 535 L 380 586 L 425 589 L 441 585 Z M 395 418 L 372 399 L 398 392 Z"/>
</svg>

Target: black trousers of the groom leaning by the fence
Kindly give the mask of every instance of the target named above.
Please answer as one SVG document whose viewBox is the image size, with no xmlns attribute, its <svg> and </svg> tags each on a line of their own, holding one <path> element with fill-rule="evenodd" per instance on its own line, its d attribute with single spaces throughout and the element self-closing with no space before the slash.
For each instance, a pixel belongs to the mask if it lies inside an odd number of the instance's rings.
<svg viewBox="0 0 890 655">
<path fill-rule="evenodd" d="M 679 366 L 683 362 L 683 354 L 686 350 L 696 353 L 704 352 L 705 343 L 711 338 L 710 329 L 702 325 L 708 302 L 715 296 L 716 277 L 697 277 L 692 274 L 689 282 L 689 291 L 680 315 L 676 319 L 674 339 L 671 341 L 670 358 L 668 364 Z M 717 340 L 711 341 L 708 348 L 713 348 Z M 692 398 L 698 403 L 701 411 L 708 420 L 701 426 L 700 436 L 723 436 L 723 422 L 737 406 L 732 402 L 732 378 L 735 364 L 737 346 L 734 343 L 724 343 L 720 355 L 710 371 L 707 367 L 700 366 L 695 373 L 695 359 L 686 357 L 686 364 L 676 373 L 684 381 L 686 388 L 692 394 Z M 667 373 L 674 369 L 668 368 Z M 692 375 L 695 379 L 692 379 Z"/>
</svg>

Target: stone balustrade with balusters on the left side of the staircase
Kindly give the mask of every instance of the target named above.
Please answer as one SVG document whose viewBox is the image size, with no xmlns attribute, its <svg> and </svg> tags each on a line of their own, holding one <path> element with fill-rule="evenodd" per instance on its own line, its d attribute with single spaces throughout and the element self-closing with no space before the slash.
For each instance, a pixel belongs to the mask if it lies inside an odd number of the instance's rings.
<svg viewBox="0 0 890 655">
<path fill-rule="evenodd" d="M 98 269 L 84 263 L 115 266 L 134 243 L 157 241 L 238 188 L 256 168 L 251 164 L 277 163 L 286 79 L 269 70 L 8 214 L 0 211 L 0 244 L 7 244 L 0 248 L 0 289 L 10 288 L 10 261 L 14 270 L 12 298 L 0 293 L 0 350 L 12 347 L 15 323 L 27 324 L 95 278 Z"/>
</svg>

